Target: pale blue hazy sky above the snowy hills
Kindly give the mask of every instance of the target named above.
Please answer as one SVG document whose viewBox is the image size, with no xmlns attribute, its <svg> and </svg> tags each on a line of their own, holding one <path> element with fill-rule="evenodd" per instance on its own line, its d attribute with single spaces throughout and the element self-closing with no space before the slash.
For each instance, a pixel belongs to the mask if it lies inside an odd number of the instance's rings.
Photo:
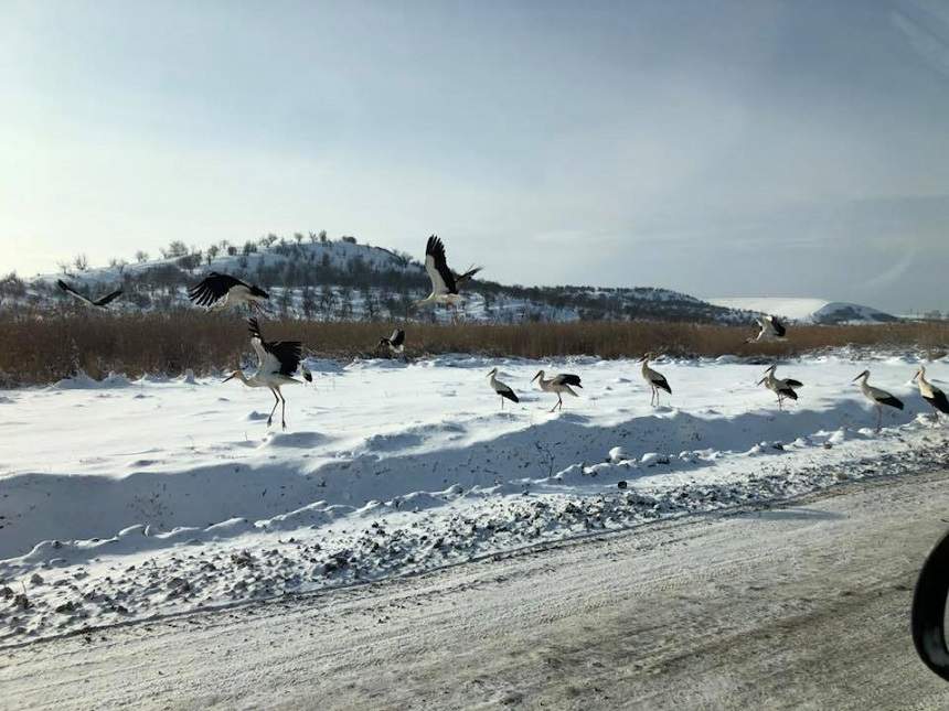
<svg viewBox="0 0 949 711">
<path fill-rule="evenodd" d="M 0 0 L 0 272 L 267 233 L 949 310 L 939 0 Z"/>
</svg>

